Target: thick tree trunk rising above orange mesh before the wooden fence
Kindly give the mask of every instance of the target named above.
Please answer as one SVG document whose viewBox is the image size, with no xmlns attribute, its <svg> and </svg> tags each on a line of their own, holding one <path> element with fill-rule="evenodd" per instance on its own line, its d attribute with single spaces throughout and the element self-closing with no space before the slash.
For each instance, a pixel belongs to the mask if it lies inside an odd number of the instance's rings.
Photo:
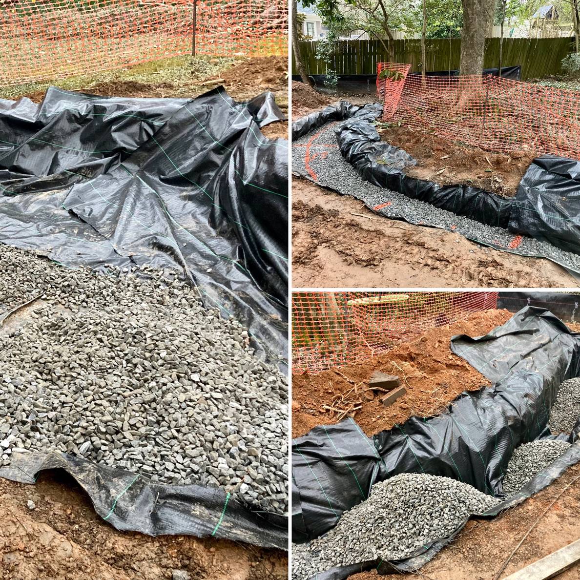
<svg viewBox="0 0 580 580">
<path fill-rule="evenodd" d="M 481 75 L 490 0 L 462 0 L 460 75 Z"/>
</svg>

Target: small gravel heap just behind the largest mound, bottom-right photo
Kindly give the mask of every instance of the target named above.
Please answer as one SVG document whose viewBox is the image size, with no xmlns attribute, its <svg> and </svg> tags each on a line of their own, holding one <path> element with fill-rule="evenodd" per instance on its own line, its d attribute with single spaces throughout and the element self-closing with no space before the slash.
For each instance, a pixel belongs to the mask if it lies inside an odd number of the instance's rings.
<svg viewBox="0 0 580 580">
<path fill-rule="evenodd" d="M 520 445 L 507 463 L 503 477 L 503 492 L 513 495 L 535 477 L 542 469 L 551 465 L 570 447 L 565 441 L 544 439 Z"/>
</svg>

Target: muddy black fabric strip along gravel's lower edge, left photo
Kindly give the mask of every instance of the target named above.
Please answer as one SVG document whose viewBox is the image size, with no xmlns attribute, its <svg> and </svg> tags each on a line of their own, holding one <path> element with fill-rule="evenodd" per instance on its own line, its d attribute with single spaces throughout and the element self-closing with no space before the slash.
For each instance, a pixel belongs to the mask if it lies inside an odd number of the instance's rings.
<svg viewBox="0 0 580 580">
<path fill-rule="evenodd" d="M 63 469 L 89 495 L 100 517 L 117 530 L 151 536 L 189 534 L 288 549 L 288 519 L 245 505 L 222 489 L 202 485 L 164 485 L 113 467 L 56 452 L 14 454 L 0 477 L 35 483 L 38 474 Z"/>
</svg>

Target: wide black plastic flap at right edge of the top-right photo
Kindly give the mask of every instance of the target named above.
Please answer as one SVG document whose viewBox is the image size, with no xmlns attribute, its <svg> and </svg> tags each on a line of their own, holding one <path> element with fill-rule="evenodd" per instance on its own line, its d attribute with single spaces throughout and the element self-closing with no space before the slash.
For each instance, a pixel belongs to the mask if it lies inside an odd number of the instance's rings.
<svg viewBox="0 0 580 580">
<path fill-rule="evenodd" d="M 580 253 L 580 161 L 535 159 L 518 187 L 509 229 Z"/>
</svg>

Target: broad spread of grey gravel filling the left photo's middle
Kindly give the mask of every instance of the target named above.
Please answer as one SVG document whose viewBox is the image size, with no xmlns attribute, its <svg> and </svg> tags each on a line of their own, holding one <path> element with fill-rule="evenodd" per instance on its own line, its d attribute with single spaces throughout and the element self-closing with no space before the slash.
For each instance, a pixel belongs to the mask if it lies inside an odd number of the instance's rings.
<svg viewBox="0 0 580 580">
<path fill-rule="evenodd" d="M 0 465 L 62 451 L 287 511 L 287 379 L 196 289 L 0 244 Z M 0 322 L 1 324 L 1 322 Z"/>
</svg>

